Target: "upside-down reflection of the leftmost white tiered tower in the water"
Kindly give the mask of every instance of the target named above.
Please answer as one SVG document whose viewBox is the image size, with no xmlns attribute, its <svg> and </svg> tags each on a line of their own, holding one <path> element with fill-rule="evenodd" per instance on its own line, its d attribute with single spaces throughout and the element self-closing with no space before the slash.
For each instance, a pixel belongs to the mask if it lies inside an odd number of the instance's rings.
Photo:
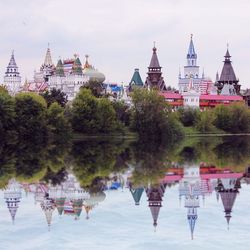
<svg viewBox="0 0 250 250">
<path fill-rule="evenodd" d="M 4 191 L 4 199 L 9 209 L 13 224 L 21 197 L 22 193 L 19 183 L 14 179 L 10 180 L 7 189 Z"/>
</svg>

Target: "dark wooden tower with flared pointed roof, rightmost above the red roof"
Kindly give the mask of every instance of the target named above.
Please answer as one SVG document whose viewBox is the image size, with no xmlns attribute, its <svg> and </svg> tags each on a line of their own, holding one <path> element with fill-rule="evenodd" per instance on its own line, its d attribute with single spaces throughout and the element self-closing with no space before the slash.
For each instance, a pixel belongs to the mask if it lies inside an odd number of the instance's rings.
<svg viewBox="0 0 250 250">
<path fill-rule="evenodd" d="M 220 78 L 217 81 L 218 82 L 218 89 L 220 91 L 223 91 L 223 89 L 225 87 L 226 89 L 229 89 L 229 92 L 232 92 L 231 93 L 232 95 L 235 93 L 239 94 L 240 93 L 240 85 L 238 84 L 239 79 L 236 78 L 236 75 L 234 73 L 232 61 L 230 59 L 231 55 L 229 53 L 228 48 L 227 48 L 227 51 L 226 51 L 226 54 L 224 57 L 225 57 L 224 65 L 223 65 L 223 68 L 221 71 Z"/>
</svg>

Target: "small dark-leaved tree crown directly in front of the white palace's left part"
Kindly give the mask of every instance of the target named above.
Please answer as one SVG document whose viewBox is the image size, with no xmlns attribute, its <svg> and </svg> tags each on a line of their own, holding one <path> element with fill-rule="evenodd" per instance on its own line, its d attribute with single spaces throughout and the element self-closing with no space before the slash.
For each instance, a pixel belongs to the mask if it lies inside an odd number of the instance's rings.
<svg viewBox="0 0 250 250">
<path fill-rule="evenodd" d="M 68 101 L 67 95 L 64 92 L 62 92 L 60 89 L 53 88 L 50 91 L 47 90 L 45 93 L 41 95 L 46 100 L 48 107 L 54 102 L 57 102 L 62 107 L 65 107 Z"/>
</svg>

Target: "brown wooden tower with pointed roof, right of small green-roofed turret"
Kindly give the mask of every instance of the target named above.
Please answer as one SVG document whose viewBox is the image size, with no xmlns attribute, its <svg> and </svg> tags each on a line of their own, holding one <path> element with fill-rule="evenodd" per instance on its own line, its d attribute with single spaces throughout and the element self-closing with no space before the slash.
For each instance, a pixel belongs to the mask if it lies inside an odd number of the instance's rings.
<svg viewBox="0 0 250 250">
<path fill-rule="evenodd" d="M 157 49 L 153 47 L 153 55 L 148 67 L 148 76 L 146 78 L 145 85 L 148 88 L 157 88 L 159 90 L 166 90 L 165 82 L 162 77 L 161 66 L 159 64 L 158 56 L 156 53 Z"/>
</svg>

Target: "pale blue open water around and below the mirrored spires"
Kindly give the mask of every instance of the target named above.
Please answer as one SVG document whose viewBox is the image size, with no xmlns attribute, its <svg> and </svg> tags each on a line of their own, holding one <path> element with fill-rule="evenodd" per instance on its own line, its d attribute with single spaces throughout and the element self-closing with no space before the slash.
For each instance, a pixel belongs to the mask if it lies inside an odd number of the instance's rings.
<svg viewBox="0 0 250 250">
<path fill-rule="evenodd" d="M 59 216 L 53 212 L 48 231 L 40 204 L 34 195 L 22 192 L 15 224 L 12 225 L 3 191 L 0 193 L 0 249 L 227 249 L 246 250 L 250 245 L 250 186 L 242 184 L 237 195 L 229 230 L 221 200 L 216 193 L 200 200 L 198 219 L 191 240 L 184 202 L 179 204 L 178 185 L 167 187 L 158 217 L 156 230 L 145 192 L 135 206 L 128 188 L 105 191 L 106 198 L 85 219 Z"/>
</svg>

